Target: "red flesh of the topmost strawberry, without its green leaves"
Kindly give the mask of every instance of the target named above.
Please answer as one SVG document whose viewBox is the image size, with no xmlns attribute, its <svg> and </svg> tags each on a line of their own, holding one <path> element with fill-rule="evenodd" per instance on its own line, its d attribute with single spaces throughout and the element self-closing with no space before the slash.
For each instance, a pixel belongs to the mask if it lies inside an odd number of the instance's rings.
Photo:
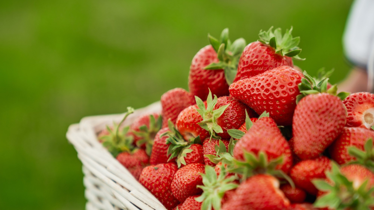
<svg viewBox="0 0 374 210">
<path fill-rule="evenodd" d="M 243 50 L 234 82 L 281 66 L 293 67 L 292 58 L 275 53 L 272 47 L 259 41 L 252 42 Z"/>
</svg>

